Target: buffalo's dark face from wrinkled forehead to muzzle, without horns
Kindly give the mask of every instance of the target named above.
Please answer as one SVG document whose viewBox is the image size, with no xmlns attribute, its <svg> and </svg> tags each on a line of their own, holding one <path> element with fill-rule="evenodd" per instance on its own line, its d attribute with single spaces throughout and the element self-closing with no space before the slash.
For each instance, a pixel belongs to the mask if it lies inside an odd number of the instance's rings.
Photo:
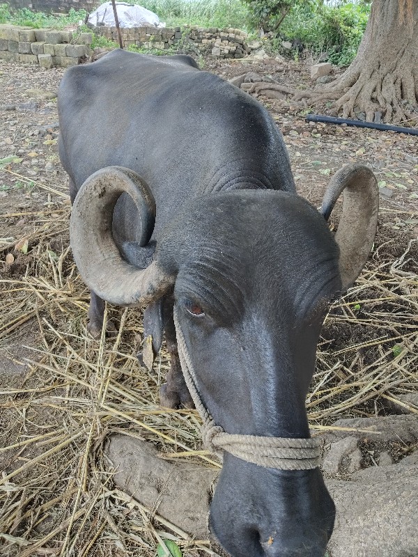
<svg viewBox="0 0 418 557">
<path fill-rule="evenodd" d="M 176 237 L 157 253 L 178 272 L 174 295 L 201 396 L 229 433 L 309 437 L 304 399 L 324 312 L 341 288 L 338 249 L 300 198 L 219 196 L 185 208 L 187 248 Z M 232 211 L 233 222 L 224 218 Z M 202 315 L 190 313 L 196 306 Z M 323 557 L 333 524 L 318 469 L 263 469 L 226 453 L 210 525 L 233 556 Z"/>
</svg>

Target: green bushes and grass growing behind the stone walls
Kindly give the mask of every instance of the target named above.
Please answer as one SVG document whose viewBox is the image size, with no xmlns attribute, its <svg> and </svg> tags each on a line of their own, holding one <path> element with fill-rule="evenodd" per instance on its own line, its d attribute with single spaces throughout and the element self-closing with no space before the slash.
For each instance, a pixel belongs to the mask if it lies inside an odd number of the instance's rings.
<svg viewBox="0 0 418 557">
<path fill-rule="evenodd" d="M 254 36 L 258 29 L 274 31 L 277 38 L 270 40 L 268 49 L 279 52 L 282 40 L 295 41 L 314 54 L 327 52 L 330 62 L 349 65 L 357 48 L 370 13 L 370 4 L 341 0 L 327 5 L 323 0 L 125 0 L 141 3 L 156 13 L 168 27 L 184 24 L 202 27 L 238 27 Z M 34 13 L 27 8 L 10 10 L 0 3 L 0 23 L 31 27 L 63 29 L 84 20 L 84 10 L 70 10 L 68 15 L 53 16 Z M 84 28 L 84 31 L 88 29 Z M 93 47 L 116 47 L 116 42 L 95 36 Z M 153 52 L 156 49 L 129 48 L 134 52 Z M 169 52 L 166 52 L 169 54 Z M 297 59 L 297 48 L 293 57 Z"/>
</svg>

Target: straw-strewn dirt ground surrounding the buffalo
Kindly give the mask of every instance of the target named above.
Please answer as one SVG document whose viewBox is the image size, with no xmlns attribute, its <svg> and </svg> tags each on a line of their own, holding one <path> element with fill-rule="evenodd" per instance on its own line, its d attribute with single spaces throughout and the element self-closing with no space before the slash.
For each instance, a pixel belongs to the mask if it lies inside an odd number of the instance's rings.
<svg viewBox="0 0 418 557">
<path fill-rule="evenodd" d="M 206 61 L 204 69 L 311 86 L 307 65 L 293 61 Z M 167 358 L 153 373 L 139 368 L 138 312 L 108 309 L 121 327 L 116 340 L 86 334 L 88 292 L 69 249 L 67 178 L 56 148 L 62 75 L 0 61 L 0 534 L 8 535 L 0 548 L 4 542 L 8 556 L 59 555 L 63 546 L 122 556 L 141 547 L 148 556 L 169 526 L 112 489 L 103 439 L 130 432 L 166 456 L 217 462 L 201 451 L 193 411 L 160 411 Z M 327 317 L 307 407 L 319 429 L 391 413 L 389 402 L 418 388 L 417 137 L 307 123 L 302 104 L 259 100 L 284 134 L 300 195 L 316 207 L 344 164 L 367 164 L 378 178 L 373 253 Z M 206 540 L 182 539 L 185 555 L 211 554 Z"/>
</svg>

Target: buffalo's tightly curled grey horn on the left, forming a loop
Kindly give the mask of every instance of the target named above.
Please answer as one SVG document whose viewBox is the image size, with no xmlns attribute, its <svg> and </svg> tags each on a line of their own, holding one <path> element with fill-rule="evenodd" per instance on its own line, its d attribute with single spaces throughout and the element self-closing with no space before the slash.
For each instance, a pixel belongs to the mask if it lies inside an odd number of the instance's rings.
<svg viewBox="0 0 418 557">
<path fill-rule="evenodd" d="M 108 166 L 92 174 L 79 189 L 72 206 L 70 237 L 72 253 L 84 282 L 102 299 L 118 306 L 148 303 L 173 283 L 156 260 L 138 269 L 121 257 L 111 229 L 114 206 L 126 192 L 141 219 L 141 240 L 150 240 L 155 223 L 153 194 L 129 168 Z"/>
</svg>

